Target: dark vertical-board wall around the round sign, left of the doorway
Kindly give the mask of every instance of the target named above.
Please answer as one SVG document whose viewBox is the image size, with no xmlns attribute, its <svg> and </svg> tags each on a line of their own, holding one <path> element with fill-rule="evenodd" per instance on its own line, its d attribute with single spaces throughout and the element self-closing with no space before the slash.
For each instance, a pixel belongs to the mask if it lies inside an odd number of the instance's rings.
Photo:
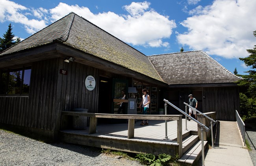
<svg viewBox="0 0 256 166">
<path fill-rule="evenodd" d="M 60 69 L 68 74 L 60 74 Z M 33 63 L 29 96 L 0 97 L 0 123 L 57 132 L 62 110 L 87 108 L 96 112 L 98 88 L 86 90 L 88 75 L 97 81 L 98 69 L 65 63 L 62 58 Z"/>
</svg>

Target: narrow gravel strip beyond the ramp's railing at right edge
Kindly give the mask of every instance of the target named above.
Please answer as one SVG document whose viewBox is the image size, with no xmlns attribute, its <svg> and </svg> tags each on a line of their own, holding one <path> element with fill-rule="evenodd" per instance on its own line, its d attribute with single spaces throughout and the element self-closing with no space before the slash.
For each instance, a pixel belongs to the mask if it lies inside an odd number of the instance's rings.
<svg viewBox="0 0 256 166">
<path fill-rule="evenodd" d="M 256 123 L 254 124 L 256 125 Z M 250 148 L 252 150 L 249 150 L 250 158 L 252 159 L 252 163 L 254 166 L 256 166 L 256 126 L 252 128 L 246 128 L 245 137 L 250 144 Z M 246 124 L 245 124 L 246 126 Z"/>
</svg>

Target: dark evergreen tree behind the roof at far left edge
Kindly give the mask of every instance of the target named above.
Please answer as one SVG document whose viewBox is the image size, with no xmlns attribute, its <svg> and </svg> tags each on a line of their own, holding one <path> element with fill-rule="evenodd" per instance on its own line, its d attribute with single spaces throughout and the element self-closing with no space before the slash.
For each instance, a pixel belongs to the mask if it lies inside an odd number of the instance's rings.
<svg viewBox="0 0 256 166">
<path fill-rule="evenodd" d="M 3 35 L 4 38 L 0 38 L 0 52 L 8 49 L 9 47 L 15 45 L 17 42 L 20 42 L 20 38 L 17 38 L 16 42 L 14 41 L 14 34 L 11 32 L 11 23 L 8 26 L 6 33 Z"/>
</svg>

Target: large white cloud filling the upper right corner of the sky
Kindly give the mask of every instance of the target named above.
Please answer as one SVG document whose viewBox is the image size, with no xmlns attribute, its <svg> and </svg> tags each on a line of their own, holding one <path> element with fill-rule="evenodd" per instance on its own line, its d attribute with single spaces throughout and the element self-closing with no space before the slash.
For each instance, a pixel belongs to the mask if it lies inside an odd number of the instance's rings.
<svg viewBox="0 0 256 166">
<path fill-rule="evenodd" d="M 247 56 L 253 47 L 256 29 L 255 0 L 215 0 L 212 5 L 198 6 L 189 11 L 192 16 L 181 25 L 187 32 L 177 35 L 182 45 L 193 50 L 225 58 Z"/>
</svg>

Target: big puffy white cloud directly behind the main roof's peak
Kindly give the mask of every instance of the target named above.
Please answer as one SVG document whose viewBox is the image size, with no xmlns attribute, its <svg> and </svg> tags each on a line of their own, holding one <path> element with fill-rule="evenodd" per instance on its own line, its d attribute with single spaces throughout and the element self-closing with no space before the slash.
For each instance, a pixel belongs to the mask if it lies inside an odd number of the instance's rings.
<svg viewBox="0 0 256 166">
<path fill-rule="evenodd" d="M 176 23 L 149 9 L 149 5 L 149 2 L 132 2 L 123 7 L 129 14 L 118 15 L 110 11 L 94 14 L 87 7 L 59 3 L 50 9 L 50 13 L 52 20 L 56 21 L 73 11 L 124 42 L 145 47 L 168 47 L 169 43 L 163 40 L 171 36 Z"/>
</svg>

